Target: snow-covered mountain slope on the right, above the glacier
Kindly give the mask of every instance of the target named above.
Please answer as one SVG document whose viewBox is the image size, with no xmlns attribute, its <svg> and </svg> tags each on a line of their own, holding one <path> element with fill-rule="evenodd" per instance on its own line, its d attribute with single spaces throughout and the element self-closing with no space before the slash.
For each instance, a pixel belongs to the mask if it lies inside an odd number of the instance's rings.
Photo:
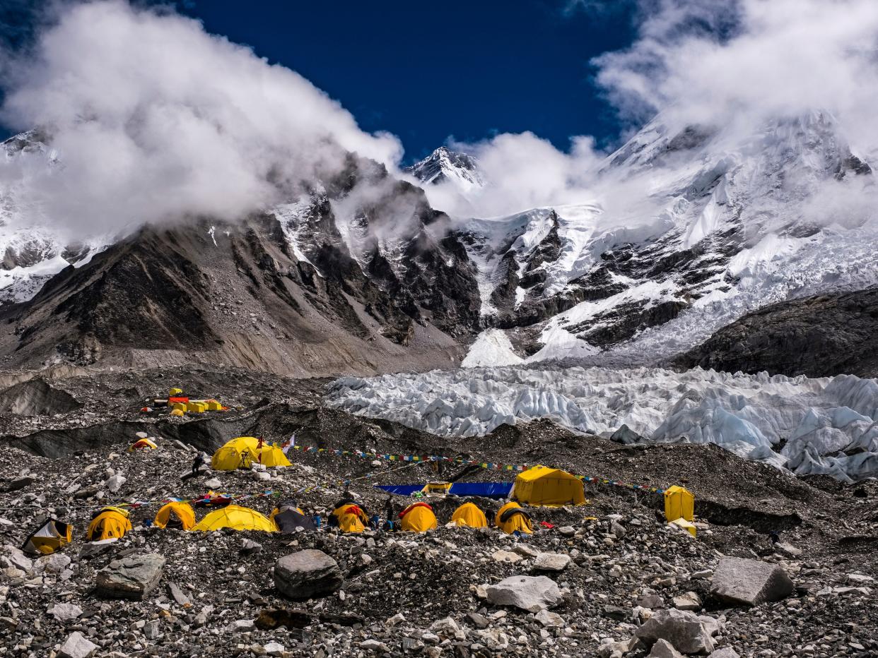
<svg viewBox="0 0 878 658">
<path fill-rule="evenodd" d="M 594 202 L 471 219 L 479 269 L 470 361 L 655 361 L 766 304 L 878 283 L 868 163 L 830 114 L 758 134 L 657 118 L 608 157 Z"/>
</svg>

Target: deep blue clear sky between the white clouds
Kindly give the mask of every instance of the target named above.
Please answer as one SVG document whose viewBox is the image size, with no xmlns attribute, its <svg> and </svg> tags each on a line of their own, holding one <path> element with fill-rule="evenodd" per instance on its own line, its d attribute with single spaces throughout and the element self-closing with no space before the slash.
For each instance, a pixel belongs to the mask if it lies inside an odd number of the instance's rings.
<svg viewBox="0 0 878 658">
<path fill-rule="evenodd" d="M 11 0 L 20 11 L 40 0 Z M 141 3 L 144 4 L 144 3 Z M 630 3 L 565 11 L 564 0 L 412 3 L 178 3 L 208 32 L 304 75 L 370 132 L 396 134 L 406 161 L 453 137 L 532 131 L 558 148 L 572 135 L 611 145 L 620 125 L 589 60 L 633 39 Z M 11 24 L 11 25 L 10 25 Z M 0 17 L 0 30 L 4 29 Z"/>
</svg>

